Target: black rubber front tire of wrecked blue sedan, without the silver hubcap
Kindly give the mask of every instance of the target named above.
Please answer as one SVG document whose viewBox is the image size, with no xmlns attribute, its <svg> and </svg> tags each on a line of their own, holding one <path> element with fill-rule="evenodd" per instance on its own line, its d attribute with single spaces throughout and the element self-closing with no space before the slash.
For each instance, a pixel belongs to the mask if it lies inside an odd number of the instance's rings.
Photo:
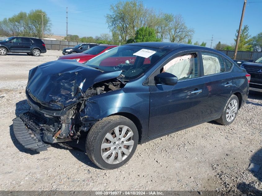
<svg viewBox="0 0 262 196">
<path fill-rule="evenodd" d="M 110 164 L 110 163 L 107 163 L 102 158 L 101 145 L 102 145 L 102 142 L 105 141 L 104 138 L 105 138 L 106 134 L 111 133 L 114 130 L 114 128 L 121 126 L 121 125 L 127 126 L 131 130 L 131 132 L 133 132 L 132 140 L 134 141 L 134 143 L 133 143 L 132 149 L 130 150 L 130 154 L 127 155 L 127 157 L 125 159 L 123 159 L 122 162 Z M 121 131 L 122 131 L 122 129 L 121 129 Z M 121 133 L 120 129 L 119 129 L 119 133 Z M 116 142 L 114 142 L 114 144 L 115 143 Z M 111 144 L 112 144 L 112 142 L 111 142 Z M 106 117 L 106 118 L 98 121 L 97 123 L 95 123 L 92 126 L 91 130 L 87 134 L 86 151 L 87 151 L 87 155 L 88 155 L 89 159 L 93 163 L 95 163 L 95 165 L 97 165 L 98 167 L 100 167 L 102 169 L 116 169 L 116 168 L 123 166 L 124 164 L 126 164 L 129 161 L 129 159 L 131 159 L 131 157 L 133 156 L 133 154 L 135 152 L 137 144 L 138 144 L 138 131 L 137 131 L 135 124 L 126 117 L 123 117 L 123 116 L 120 116 L 120 115 L 115 115 L 115 116 Z M 113 148 L 116 149 L 115 147 L 109 147 L 108 149 L 113 150 Z M 121 149 L 121 147 L 118 147 L 118 148 Z M 118 152 L 120 152 L 120 151 L 118 151 Z M 122 155 L 126 156 L 125 154 L 121 154 L 121 159 L 122 159 Z M 118 156 L 118 154 L 115 153 L 115 156 Z M 117 158 L 115 158 L 115 156 L 114 156 L 114 161 L 116 161 L 116 159 L 117 159 Z M 105 159 L 107 159 L 107 158 L 105 158 Z M 110 158 L 108 158 L 108 159 L 110 159 Z"/>
</svg>

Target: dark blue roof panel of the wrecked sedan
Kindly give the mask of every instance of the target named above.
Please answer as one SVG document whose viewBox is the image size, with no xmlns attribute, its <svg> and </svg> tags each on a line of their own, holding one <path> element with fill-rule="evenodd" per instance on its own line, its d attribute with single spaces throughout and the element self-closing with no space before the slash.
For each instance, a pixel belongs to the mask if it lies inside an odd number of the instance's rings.
<svg viewBox="0 0 262 196">
<path fill-rule="evenodd" d="M 152 47 L 152 48 L 159 48 L 165 50 L 176 50 L 179 48 L 187 48 L 188 50 L 209 50 L 220 53 L 217 50 L 198 46 L 198 45 L 191 45 L 191 44 L 183 44 L 183 43 L 174 43 L 174 42 L 138 42 L 138 43 L 131 43 L 126 45 L 133 45 L 133 46 L 145 46 L 145 47 Z"/>
</svg>

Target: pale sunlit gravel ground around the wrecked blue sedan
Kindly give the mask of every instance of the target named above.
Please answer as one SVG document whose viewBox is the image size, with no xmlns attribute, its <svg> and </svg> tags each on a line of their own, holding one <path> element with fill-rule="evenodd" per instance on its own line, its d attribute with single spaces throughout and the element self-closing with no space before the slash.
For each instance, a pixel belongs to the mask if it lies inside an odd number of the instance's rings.
<svg viewBox="0 0 262 196">
<path fill-rule="evenodd" d="M 262 94 L 250 92 L 229 126 L 204 123 L 138 145 L 122 168 L 97 168 L 84 151 L 52 145 L 26 150 L 16 141 L 12 119 L 29 108 L 29 69 L 56 60 L 61 51 L 40 57 L 0 56 L 0 190 L 258 190 L 262 194 Z M 82 140 L 83 143 L 84 139 Z M 260 166 L 248 170 L 250 163 Z"/>
</svg>

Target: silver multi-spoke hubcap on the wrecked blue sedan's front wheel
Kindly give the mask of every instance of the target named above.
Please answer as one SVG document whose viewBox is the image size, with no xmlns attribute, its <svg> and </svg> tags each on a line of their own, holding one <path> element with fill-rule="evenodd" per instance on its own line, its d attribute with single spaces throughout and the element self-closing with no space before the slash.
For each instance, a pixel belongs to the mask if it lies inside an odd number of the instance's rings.
<svg viewBox="0 0 262 196">
<path fill-rule="evenodd" d="M 134 146 L 133 131 L 124 125 L 107 133 L 101 144 L 101 156 L 106 163 L 117 164 L 125 160 Z"/>
</svg>

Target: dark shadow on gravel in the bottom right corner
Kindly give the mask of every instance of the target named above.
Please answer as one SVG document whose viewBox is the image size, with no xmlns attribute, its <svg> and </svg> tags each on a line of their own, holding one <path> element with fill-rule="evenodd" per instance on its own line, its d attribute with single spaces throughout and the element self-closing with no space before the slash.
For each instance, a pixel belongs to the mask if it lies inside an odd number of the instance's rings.
<svg viewBox="0 0 262 196">
<path fill-rule="evenodd" d="M 249 170 L 255 176 L 260 183 L 262 182 L 262 148 L 258 150 L 250 160 L 250 163 L 254 163 L 256 165 L 259 165 L 260 168 L 257 172 Z M 243 194 L 246 195 L 262 195 L 262 191 L 257 189 L 258 184 L 255 184 L 254 182 L 250 182 L 247 184 L 246 182 L 239 183 L 237 185 L 238 190 L 240 190 Z"/>
</svg>

